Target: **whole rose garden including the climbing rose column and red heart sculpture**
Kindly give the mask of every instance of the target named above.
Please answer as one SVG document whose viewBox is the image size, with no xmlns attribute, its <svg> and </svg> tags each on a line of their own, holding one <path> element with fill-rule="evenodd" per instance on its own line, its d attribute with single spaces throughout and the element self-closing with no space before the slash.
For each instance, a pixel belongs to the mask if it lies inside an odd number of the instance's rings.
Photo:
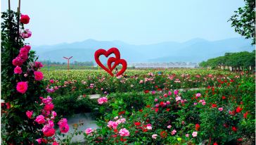
<svg viewBox="0 0 256 145">
<path fill-rule="evenodd" d="M 255 143 L 255 73 L 126 70 L 115 48 L 95 53 L 101 70 L 47 71 L 28 43 L 29 15 L 1 18 L 2 144 Z M 94 122 L 69 124 L 88 113 Z"/>
</svg>

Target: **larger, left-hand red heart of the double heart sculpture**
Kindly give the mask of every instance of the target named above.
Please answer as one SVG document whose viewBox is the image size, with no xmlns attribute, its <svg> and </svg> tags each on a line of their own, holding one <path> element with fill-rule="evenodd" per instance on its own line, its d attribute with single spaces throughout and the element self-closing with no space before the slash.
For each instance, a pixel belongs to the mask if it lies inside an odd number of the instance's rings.
<svg viewBox="0 0 256 145">
<path fill-rule="evenodd" d="M 99 60 L 99 57 L 101 55 L 104 55 L 105 57 L 108 57 L 110 56 L 110 54 L 114 53 L 115 54 L 115 58 L 117 60 L 120 59 L 120 52 L 117 48 L 113 47 L 111 49 L 108 49 L 108 51 L 105 51 L 104 49 L 98 49 L 95 53 L 94 53 L 94 58 L 95 58 L 95 61 L 96 63 L 101 67 L 103 68 L 106 72 L 108 72 L 111 76 L 114 76 L 113 73 L 112 73 L 112 70 L 114 69 L 111 69 L 111 67 L 108 66 L 108 68 L 105 68 L 105 66 L 101 63 L 101 61 Z M 116 62 L 115 62 L 116 63 Z M 110 63 L 111 65 L 111 63 Z M 114 64 L 115 65 L 115 64 Z"/>
</svg>

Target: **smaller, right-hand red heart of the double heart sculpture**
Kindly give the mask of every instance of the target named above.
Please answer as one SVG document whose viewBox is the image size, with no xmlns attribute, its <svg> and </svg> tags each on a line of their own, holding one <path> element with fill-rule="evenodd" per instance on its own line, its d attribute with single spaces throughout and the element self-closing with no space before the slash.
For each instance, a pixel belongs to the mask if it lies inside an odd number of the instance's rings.
<svg viewBox="0 0 256 145">
<path fill-rule="evenodd" d="M 114 65 L 111 67 L 112 63 L 114 63 Z M 122 64 L 122 69 L 115 76 L 119 76 L 119 75 L 122 75 L 122 73 L 124 73 L 124 71 L 127 69 L 127 62 L 124 59 L 117 60 L 117 58 L 113 58 L 113 57 L 108 58 L 108 68 L 110 68 L 111 72 L 119 64 Z"/>
</svg>

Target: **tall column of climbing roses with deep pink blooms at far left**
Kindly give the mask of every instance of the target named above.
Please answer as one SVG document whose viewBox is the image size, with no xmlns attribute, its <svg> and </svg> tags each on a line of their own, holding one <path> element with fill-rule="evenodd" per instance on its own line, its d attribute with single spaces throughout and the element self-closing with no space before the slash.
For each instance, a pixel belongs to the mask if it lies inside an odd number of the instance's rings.
<svg viewBox="0 0 256 145">
<path fill-rule="evenodd" d="M 24 27 L 30 23 L 30 17 L 7 11 L 1 18 L 1 87 L 5 101 L 1 103 L 3 143 L 56 145 L 58 132 L 54 121 L 57 113 L 53 111 L 53 99 L 46 95 L 42 81 L 44 74 L 40 71 L 43 65 L 37 61 L 31 46 L 24 43 L 32 36 L 32 32 Z M 67 133 L 68 120 L 60 119 L 58 127 L 59 134 Z"/>
</svg>

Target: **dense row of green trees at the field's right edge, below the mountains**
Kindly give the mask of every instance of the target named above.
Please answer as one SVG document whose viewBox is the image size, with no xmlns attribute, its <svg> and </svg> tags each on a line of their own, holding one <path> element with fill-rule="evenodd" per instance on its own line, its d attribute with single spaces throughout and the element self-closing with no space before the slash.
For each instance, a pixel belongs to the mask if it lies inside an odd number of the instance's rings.
<svg viewBox="0 0 256 145">
<path fill-rule="evenodd" d="M 225 53 L 224 56 L 210 58 L 207 61 L 199 63 L 199 66 L 203 68 L 255 68 L 255 50 L 252 52 Z"/>
</svg>

